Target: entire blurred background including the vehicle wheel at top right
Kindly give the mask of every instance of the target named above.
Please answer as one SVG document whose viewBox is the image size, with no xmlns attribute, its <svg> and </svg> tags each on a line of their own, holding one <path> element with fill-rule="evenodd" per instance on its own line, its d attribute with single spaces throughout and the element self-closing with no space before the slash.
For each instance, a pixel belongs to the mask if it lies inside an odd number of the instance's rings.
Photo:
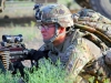
<svg viewBox="0 0 111 83">
<path fill-rule="evenodd" d="M 33 7 L 36 3 L 62 3 L 72 13 L 82 8 L 93 9 L 111 19 L 111 0 L 0 0 L 0 41 L 2 34 L 22 34 L 29 49 L 38 49 L 43 44 L 37 28 Z"/>
</svg>

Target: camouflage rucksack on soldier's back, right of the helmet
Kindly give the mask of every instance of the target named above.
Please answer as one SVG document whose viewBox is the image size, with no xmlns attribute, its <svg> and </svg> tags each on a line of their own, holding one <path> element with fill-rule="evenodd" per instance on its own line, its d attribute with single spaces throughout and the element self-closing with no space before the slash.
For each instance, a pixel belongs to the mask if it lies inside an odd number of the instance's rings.
<svg viewBox="0 0 111 83">
<path fill-rule="evenodd" d="M 73 21 L 79 24 L 95 28 L 111 39 L 111 20 L 99 12 L 90 9 L 82 9 L 73 14 Z"/>
</svg>

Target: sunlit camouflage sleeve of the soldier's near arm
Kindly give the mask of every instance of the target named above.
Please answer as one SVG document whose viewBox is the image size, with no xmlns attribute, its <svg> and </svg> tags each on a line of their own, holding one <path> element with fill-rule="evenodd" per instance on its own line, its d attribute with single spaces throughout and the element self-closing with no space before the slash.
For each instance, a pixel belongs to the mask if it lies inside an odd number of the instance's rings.
<svg viewBox="0 0 111 83">
<path fill-rule="evenodd" d="M 81 41 L 81 40 L 80 40 Z M 82 71 L 84 65 L 93 59 L 92 53 L 87 43 L 81 41 L 80 43 L 74 44 L 74 48 L 71 50 L 71 55 L 67 64 L 68 80 L 77 81 L 79 73 Z"/>
</svg>

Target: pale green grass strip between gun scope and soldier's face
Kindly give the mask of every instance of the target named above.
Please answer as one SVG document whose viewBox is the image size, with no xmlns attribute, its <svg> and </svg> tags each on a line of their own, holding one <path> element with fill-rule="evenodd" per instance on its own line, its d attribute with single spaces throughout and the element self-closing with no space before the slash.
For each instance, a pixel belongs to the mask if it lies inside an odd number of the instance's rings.
<svg viewBox="0 0 111 83">
<path fill-rule="evenodd" d="M 0 35 L 2 34 L 22 34 L 23 35 L 23 41 L 28 42 L 31 41 L 36 38 L 41 37 L 40 31 L 36 27 L 36 22 L 31 21 L 30 25 L 28 23 L 24 24 L 24 27 L 20 25 L 13 25 L 13 23 L 10 24 L 10 27 L 1 28 L 0 29 Z M 1 39 L 1 37 L 0 37 Z M 41 38 L 39 38 L 41 40 Z"/>
</svg>

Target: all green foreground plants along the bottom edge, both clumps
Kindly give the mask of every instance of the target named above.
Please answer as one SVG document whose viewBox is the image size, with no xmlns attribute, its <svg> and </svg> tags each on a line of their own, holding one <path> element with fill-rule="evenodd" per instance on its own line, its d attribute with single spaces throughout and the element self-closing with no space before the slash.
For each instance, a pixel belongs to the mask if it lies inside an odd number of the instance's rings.
<svg viewBox="0 0 111 83">
<path fill-rule="evenodd" d="M 63 71 L 63 66 L 60 66 L 60 62 L 57 65 L 52 65 L 49 60 L 44 60 L 44 62 L 40 62 L 40 66 L 38 71 L 33 68 L 33 73 L 27 71 L 27 77 L 23 80 L 27 83 L 64 83 L 65 82 L 65 71 Z M 0 83 L 18 83 L 20 79 L 20 74 L 14 76 L 8 72 L 6 75 L 0 73 Z M 72 83 L 72 82 L 68 82 Z"/>
</svg>

